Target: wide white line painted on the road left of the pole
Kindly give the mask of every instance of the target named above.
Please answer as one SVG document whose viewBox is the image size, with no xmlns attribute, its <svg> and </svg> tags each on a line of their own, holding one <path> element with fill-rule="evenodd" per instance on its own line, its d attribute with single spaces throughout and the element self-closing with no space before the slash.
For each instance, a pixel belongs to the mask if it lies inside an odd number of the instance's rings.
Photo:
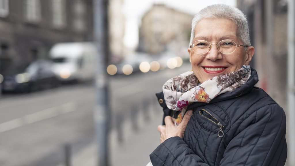
<svg viewBox="0 0 295 166">
<path fill-rule="evenodd" d="M 38 111 L 21 118 L 16 118 L 8 122 L 0 124 L 0 133 L 9 131 L 18 127 L 22 127 L 28 124 L 32 124 L 38 121 L 42 121 L 48 118 L 52 118 L 58 115 L 69 113 L 75 110 L 75 103 L 68 102 L 63 105 L 48 108 L 42 111 Z"/>
</svg>

